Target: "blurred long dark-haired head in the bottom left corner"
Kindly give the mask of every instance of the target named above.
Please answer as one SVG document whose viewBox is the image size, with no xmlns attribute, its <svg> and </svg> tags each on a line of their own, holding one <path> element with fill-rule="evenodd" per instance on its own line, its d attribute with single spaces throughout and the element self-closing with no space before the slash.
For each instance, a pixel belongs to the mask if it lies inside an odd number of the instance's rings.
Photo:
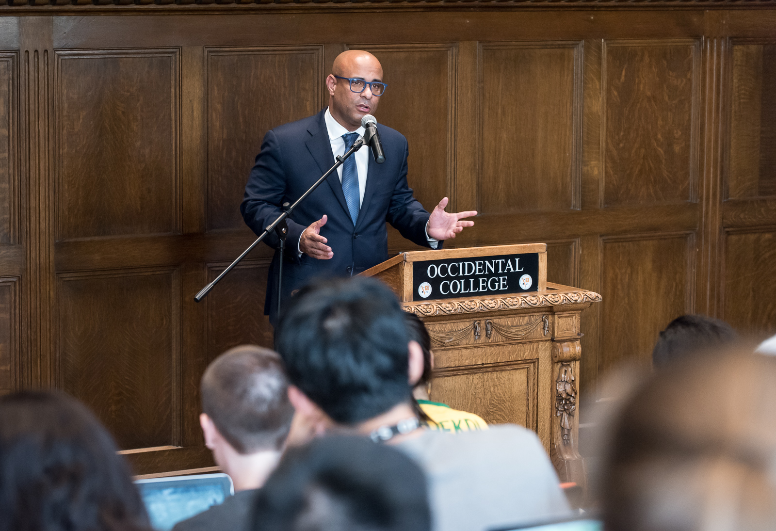
<svg viewBox="0 0 776 531">
<path fill-rule="evenodd" d="M 0 397 L 0 531 L 149 529 L 117 450 L 74 398 L 55 391 Z"/>
</svg>

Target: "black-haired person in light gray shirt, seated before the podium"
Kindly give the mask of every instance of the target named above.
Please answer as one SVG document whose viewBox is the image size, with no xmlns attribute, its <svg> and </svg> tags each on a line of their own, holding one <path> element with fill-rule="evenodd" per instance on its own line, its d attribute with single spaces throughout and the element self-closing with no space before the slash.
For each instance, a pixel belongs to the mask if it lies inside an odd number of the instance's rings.
<svg viewBox="0 0 776 531">
<path fill-rule="evenodd" d="M 434 529 L 475 531 L 566 515 L 542 443 L 516 425 L 456 436 L 425 429 L 412 407 L 423 352 L 376 279 L 308 286 L 282 317 L 275 348 L 289 397 L 311 432 L 355 432 L 414 458 L 428 474 Z"/>
</svg>

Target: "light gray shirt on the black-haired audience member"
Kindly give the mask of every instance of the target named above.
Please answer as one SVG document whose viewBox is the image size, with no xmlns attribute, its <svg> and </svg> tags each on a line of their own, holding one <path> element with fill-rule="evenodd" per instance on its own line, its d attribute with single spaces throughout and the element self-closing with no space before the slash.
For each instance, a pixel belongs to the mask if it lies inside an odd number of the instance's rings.
<svg viewBox="0 0 776 531">
<path fill-rule="evenodd" d="M 428 431 L 397 448 L 427 474 L 434 531 L 481 531 L 571 515 L 555 468 L 528 429 Z"/>
</svg>

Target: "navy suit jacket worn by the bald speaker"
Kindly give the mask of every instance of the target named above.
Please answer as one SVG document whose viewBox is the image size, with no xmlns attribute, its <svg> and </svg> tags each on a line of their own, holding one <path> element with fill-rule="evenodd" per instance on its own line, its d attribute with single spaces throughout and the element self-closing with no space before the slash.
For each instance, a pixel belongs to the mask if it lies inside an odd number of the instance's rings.
<svg viewBox="0 0 776 531">
<path fill-rule="evenodd" d="M 269 130 L 256 156 L 245 196 L 240 206 L 245 223 L 256 234 L 282 212 L 280 205 L 293 203 L 334 165 L 331 141 L 324 112 L 298 122 L 286 123 Z M 314 193 L 300 203 L 288 219 L 285 261 L 283 262 L 282 300 L 289 300 L 310 279 L 331 276 L 352 276 L 388 259 L 386 221 L 396 227 L 404 238 L 429 247 L 425 226 L 429 213 L 412 195 L 407 185 L 407 139 L 390 127 L 378 124 L 386 161 L 378 165 L 369 155 L 366 189 L 359 219 L 353 226 L 342 193 L 338 172 L 333 172 Z M 364 146 L 362 149 L 369 149 Z M 328 220 L 320 234 L 334 252 L 329 260 L 299 256 L 297 244 L 304 229 L 327 214 Z M 277 323 L 276 272 L 280 259 L 276 234 L 264 240 L 275 248 L 269 268 L 265 314 L 272 325 Z M 439 242 L 438 248 L 442 247 Z"/>
</svg>

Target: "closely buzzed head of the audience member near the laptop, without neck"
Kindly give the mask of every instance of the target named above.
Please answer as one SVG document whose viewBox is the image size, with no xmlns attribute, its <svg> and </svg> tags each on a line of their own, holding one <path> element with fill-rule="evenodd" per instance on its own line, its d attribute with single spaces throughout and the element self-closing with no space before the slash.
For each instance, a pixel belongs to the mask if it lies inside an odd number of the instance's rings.
<svg viewBox="0 0 776 531">
<path fill-rule="evenodd" d="M 202 377 L 202 409 L 238 453 L 280 449 L 293 418 L 282 360 L 272 350 L 227 350 Z"/>
</svg>

